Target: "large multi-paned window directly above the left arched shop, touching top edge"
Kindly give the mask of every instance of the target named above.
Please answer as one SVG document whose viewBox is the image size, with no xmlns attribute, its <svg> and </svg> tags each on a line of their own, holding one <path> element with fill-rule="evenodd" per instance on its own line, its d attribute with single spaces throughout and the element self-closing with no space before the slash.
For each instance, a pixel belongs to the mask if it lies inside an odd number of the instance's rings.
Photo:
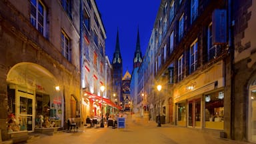
<svg viewBox="0 0 256 144">
<path fill-rule="evenodd" d="M 31 0 L 31 24 L 46 37 L 46 8 L 39 0 Z"/>
</svg>

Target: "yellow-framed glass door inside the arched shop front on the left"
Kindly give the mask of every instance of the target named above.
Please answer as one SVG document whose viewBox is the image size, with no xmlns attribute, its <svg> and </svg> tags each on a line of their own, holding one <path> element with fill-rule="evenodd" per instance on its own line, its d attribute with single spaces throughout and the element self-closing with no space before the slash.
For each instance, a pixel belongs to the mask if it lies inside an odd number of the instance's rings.
<svg viewBox="0 0 256 144">
<path fill-rule="evenodd" d="M 17 91 L 17 116 L 19 117 L 19 125 L 21 131 L 33 131 L 35 118 L 35 99 L 34 95 Z"/>
</svg>

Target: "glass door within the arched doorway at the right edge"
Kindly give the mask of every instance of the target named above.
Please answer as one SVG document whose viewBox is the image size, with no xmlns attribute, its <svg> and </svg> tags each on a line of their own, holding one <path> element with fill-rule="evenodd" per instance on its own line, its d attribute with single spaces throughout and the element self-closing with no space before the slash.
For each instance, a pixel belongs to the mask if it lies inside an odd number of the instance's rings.
<svg viewBox="0 0 256 144">
<path fill-rule="evenodd" d="M 251 129 L 249 129 L 249 139 L 251 142 L 256 142 L 256 85 L 250 88 L 249 91 L 249 99 L 251 101 L 251 111 L 249 112 L 250 120 L 249 120 L 249 127 L 251 125 Z"/>
</svg>

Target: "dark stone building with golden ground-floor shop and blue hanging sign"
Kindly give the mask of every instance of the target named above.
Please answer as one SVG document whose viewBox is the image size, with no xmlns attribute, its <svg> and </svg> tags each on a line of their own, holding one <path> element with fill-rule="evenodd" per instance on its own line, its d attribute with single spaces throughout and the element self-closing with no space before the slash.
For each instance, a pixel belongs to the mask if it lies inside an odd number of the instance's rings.
<svg viewBox="0 0 256 144">
<path fill-rule="evenodd" d="M 230 136 L 227 7 L 225 1 L 161 1 L 154 23 L 155 87 L 162 85 L 154 109 L 161 123 Z"/>
</svg>

